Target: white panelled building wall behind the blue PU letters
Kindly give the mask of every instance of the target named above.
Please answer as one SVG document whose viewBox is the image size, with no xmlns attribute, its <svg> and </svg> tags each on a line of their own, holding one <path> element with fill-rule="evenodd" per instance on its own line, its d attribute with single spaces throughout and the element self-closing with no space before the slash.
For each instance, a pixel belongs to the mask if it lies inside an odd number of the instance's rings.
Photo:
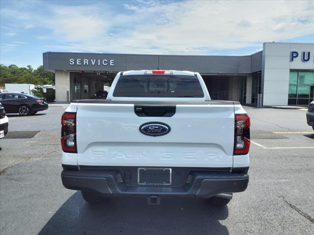
<svg viewBox="0 0 314 235">
<path fill-rule="evenodd" d="M 290 61 L 290 52 L 299 56 Z M 301 60 L 302 51 L 310 51 L 308 62 Z M 314 44 L 307 43 L 264 43 L 263 44 L 263 105 L 288 105 L 289 72 L 314 69 Z"/>
</svg>

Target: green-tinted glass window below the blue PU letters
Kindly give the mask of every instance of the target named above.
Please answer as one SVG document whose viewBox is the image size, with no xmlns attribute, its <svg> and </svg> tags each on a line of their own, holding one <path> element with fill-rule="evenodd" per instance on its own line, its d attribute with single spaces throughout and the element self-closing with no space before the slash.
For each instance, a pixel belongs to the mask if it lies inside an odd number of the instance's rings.
<svg viewBox="0 0 314 235">
<path fill-rule="evenodd" d="M 314 72 L 290 71 L 288 105 L 307 105 L 314 100 Z"/>
</svg>

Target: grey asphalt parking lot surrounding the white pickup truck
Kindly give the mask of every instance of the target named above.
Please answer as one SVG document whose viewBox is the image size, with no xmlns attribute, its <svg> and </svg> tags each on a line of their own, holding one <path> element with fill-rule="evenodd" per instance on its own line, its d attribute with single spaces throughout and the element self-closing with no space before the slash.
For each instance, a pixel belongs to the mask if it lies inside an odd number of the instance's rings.
<svg viewBox="0 0 314 235">
<path fill-rule="evenodd" d="M 85 203 L 63 188 L 60 117 L 50 106 L 28 117 L 8 115 L 0 140 L 1 235 L 312 235 L 314 132 L 305 110 L 245 107 L 251 117 L 250 182 L 218 208 L 203 200 L 115 198 Z"/>
</svg>

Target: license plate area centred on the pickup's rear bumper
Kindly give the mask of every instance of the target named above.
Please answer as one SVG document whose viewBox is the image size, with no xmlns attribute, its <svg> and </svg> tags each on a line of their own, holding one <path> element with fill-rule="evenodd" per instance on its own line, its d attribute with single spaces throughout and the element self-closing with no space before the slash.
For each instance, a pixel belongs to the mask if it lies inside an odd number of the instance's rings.
<svg viewBox="0 0 314 235">
<path fill-rule="evenodd" d="M 171 168 L 139 167 L 137 183 L 139 185 L 171 185 Z"/>
</svg>

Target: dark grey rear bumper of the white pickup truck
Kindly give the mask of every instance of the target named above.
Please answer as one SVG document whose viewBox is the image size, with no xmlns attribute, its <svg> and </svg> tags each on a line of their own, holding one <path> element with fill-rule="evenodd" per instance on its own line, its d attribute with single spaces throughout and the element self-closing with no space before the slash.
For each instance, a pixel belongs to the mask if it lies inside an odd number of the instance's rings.
<svg viewBox="0 0 314 235">
<path fill-rule="evenodd" d="M 102 196 L 158 196 L 209 198 L 220 193 L 241 192 L 247 188 L 245 173 L 194 172 L 181 187 L 128 186 L 119 172 L 110 170 L 63 170 L 65 188 L 94 191 Z"/>
</svg>

